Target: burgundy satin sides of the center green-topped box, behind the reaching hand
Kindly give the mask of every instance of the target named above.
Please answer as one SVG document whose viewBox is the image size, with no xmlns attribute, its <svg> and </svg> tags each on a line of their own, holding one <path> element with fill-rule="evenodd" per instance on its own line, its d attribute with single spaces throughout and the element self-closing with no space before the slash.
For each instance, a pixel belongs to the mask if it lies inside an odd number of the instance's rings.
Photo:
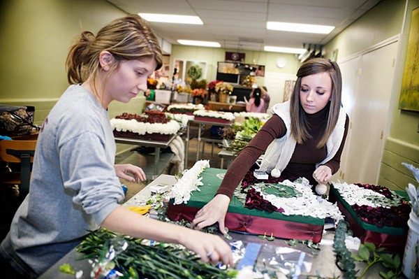
<svg viewBox="0 0 419 279">
<path fill-rule="evenodd" d="M 187 220 L 192 222 L 193 217 L 200 208 L 191 206 L 173 205 L 169 203 L 168 218 L 172 221 Z M 314 243 L 321 241 L 323 226 L 318 224 L 303 224 L 291 221 L 268 219 L 242 215 L 237 213 L 227 213 L 225 225 L 230 231 L 245 231 L 251 234 L 265 234 L 278 238 L 297 238 L 298 240 L 311 240 Z"/>
</svg>

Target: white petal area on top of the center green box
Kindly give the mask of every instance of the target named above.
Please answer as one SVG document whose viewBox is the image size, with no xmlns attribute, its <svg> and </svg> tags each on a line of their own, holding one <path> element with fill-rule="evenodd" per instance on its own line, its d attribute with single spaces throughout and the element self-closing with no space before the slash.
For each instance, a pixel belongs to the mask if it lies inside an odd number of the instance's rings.
<svg viewBox="0 0 419 279">
<path fill-rule="evenodd" d="M 292 183 L 290 180 L 284 180 L 280 184 L 294 188 L 302 193 L 302 196 L 279 197 L 274 194 L 263 193 L 257 185 L 254 185 L 254 188 L 262 194 L 263 199 L 270 201 L 277 208 L 283 208 L 284 213 L 282 214 L 284 215 L 303 215 L 320 219 L 331 217 L 335 222 L 344 219 L 337 204 L 330 203 L 320 196 L 313 194 L 307 178 L 302 178 L 301 183 Z"/>
</svg>

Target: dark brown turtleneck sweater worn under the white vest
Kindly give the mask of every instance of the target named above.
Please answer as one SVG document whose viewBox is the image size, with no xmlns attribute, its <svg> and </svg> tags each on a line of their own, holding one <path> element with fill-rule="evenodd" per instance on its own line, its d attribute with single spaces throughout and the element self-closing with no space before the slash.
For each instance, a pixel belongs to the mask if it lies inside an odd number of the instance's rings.
<svg viewBox="0 0 419 279">
<path fill-rule="evenodd" d="M 316 148 L 324 131 L 327 113 L 328 106 L 318 113 L 306 114 L 307 122 L 309 123 L 309 127 L 311 127 L 311 138 L 302 144 L 295 145 L 293 156 L 281 174 L 286 176 L 304 177 L 310 181 L 311 185 L 317 184 L 316 180 L 313 178 L 313 172 L 316 169 L 316 164 L 322 162 L 328 153 L 325 146 L 321 149 Z M 346 115 L 344 138 L 342 139 L 339 150 L 337 150 L 335 157 L 324 164 L 325 166 L 330 167 L 332 174 L 339 170 L 341 152 L 344 149 L 346 135 L 348 134 L 348 124 L 349 117 Z M 275 138 L 281 138 L 282 136 L 285 136 L 285 134 L 286 127 L 284 121 L 278 115 L 273 115 L 230 165 L 216 194 L 225 194 L 231 199 L 237 185 L 239 185 L 244 175 L 249 171 L 260 155 L 265 152 L 267 146 L 270 145 Z"/>
</svg>

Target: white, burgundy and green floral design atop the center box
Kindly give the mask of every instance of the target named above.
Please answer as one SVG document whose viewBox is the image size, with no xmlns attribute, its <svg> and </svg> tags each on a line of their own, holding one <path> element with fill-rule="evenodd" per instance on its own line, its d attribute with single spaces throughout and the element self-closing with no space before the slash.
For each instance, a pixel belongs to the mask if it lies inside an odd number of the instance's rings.
<svg viewBox="0 0 419 279">
<path fill-rule="evenodd" d="M 336 204 L 313 193 L 307 178 L 295 180 L 291 177 L 270 176 L 267 180 L 258 180 L 249 171 L 242 180 L 242 186 L 235 190 L 235 196 L 249 209 L 321 219 L 332 217 L 336 222 L 344 218 Z"/>
</svg>

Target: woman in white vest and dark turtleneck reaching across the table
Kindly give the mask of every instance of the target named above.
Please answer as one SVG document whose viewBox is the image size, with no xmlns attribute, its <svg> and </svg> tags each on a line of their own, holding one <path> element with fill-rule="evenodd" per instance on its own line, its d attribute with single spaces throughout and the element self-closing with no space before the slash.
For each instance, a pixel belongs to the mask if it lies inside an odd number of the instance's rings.
<svg viewBox="0 0 419 279">
<path fill-rule="evenodd" d="M 191 227 L 215 222 L 224 232 L 224 218 L 233 192 L 258 157 L 260 170 L 273 177 L 304 177 L 311 185 L 328 183 L 340 165 L 348 132 L 341 108 L 341 72 L 336 62 L 314 58 L 297 71 L 290 101 L 272 107 L 272 117 L 240 152 L 216 196 L 195 216 Z"/>
</svg>

